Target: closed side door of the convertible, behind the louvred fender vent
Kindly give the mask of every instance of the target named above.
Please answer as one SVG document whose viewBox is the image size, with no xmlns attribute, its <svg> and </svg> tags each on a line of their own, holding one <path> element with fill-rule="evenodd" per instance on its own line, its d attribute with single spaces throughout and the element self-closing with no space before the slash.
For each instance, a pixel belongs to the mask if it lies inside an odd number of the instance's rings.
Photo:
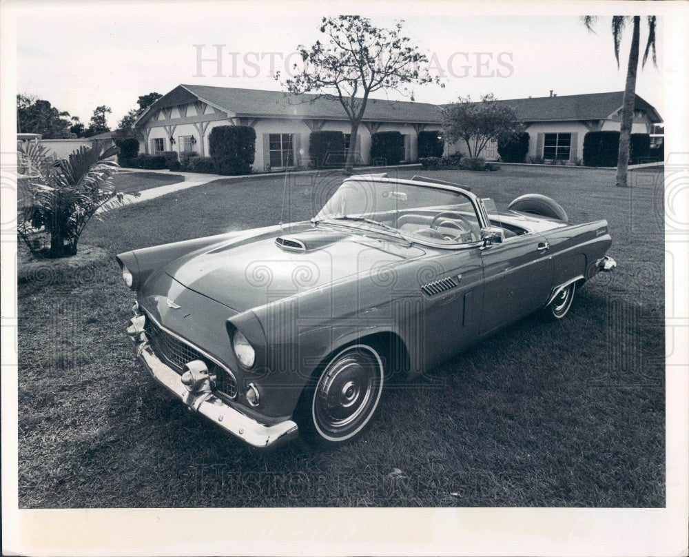
<svg viewBox="0 0 689 557">
<path fill-rule="evenodd" d="M 484 296 L 481 334 L 542 307 L 553 287 L 553 258 L 544 236 L 522 234 L 481 250 Z"/>
</svg>

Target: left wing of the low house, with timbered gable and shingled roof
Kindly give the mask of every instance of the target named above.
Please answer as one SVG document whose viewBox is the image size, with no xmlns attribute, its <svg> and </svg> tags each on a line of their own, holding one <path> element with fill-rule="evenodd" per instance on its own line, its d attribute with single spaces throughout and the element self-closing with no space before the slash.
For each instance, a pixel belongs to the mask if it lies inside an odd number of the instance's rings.
<svg viewBox="0 0 689 557">
<path fill-rule="evenodd" d="M 370 160 L 371 135 L 398 131 L 404 136 L 404 160 L 416 161 L 417 134 L 440 130 L 437 105 L 370 99 L 356 137 L 356 162 Z M 178 85 L 153 103 L 134 127 L 143 152 L 195 152 L 209 155 L 209 134 L 218 125 L 249 125 L 256 130 L 254 170 L 284 170 L 309 164 L 309 135 L 341 131 L 349 148 L 351 125 L 339 101 L 313 94 L 287 94 L 207 85 Z"/>
</svg>

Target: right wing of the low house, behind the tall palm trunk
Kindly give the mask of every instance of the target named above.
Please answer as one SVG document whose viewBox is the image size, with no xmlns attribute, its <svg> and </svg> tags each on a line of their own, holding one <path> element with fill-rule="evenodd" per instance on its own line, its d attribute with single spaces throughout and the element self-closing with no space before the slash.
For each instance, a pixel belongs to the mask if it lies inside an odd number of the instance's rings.
<svg viewBox="0 0 689 557">
<path fill-rule="evenodd" d="M 510 105 L 529 134 L 528 156 L 545 161 L 575 163 L 583 158 L 586 132 L 619 131 L 624 91 L 563 95 L 551 91 L 548 97 L 497 101 Z M 636 96 L 632 133 L 650 134 L 654 124 L 662 122 L 660 114 L 649 103 Z M 450 153 L 466 154 L 464 142 L 451 145 Z M 486 159 L 497 159 L 495 141 L 481 153 Z"/>
</svg>

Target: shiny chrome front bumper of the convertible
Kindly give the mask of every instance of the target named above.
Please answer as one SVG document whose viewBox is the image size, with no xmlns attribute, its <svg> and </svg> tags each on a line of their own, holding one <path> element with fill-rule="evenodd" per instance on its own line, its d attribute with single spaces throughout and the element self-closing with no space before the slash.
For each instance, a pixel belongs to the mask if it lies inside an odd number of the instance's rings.
<svg viewBox="0 0 689 557">
<path fill-rule="evenodd" d="M 201 388 L 197 385 L 193 390 L 187 387 L 182 383 L 182 377 L 154 354 L 144 331 L 146 316 L 138 311 L 138 304 L 134 304 L 132 309 L 134 317 L 130 319 L 127 327 L 127 336 L 134 343 L 136 356 L 153 378 L 180 398 L 190 410 L 205 416 L 220 429 L 253 447 L 269 447 L 278 441 L 282 443 L 296 436 L 298 428 L 291 420 L 275 425 L 263 425 L 215 396 L 209 384 Z"/>
</svg>

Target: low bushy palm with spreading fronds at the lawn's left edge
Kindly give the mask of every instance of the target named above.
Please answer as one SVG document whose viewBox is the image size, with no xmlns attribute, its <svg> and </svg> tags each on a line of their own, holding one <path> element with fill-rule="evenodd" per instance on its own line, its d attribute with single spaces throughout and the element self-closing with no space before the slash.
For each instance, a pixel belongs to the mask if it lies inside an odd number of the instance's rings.
<svg viewBox="0 0 689 557">
<path fill-rule="evenodd" d="M 85 225 L 100 207 L 121 203 L 123 192 L 116 190 L 112 176 L 119 166 L 107 159 L 119 152 L 116 147 L 82 146 L 68 159 L 55 161 L 46 149 L 34 142 L 19 145 L 26 169 L 20 194 L 17 234 L 34 256 L 67 257 L 76 254 L 76 245 Z M 50 236 L 44 249 L 37 236 Z"/>
</svg>

